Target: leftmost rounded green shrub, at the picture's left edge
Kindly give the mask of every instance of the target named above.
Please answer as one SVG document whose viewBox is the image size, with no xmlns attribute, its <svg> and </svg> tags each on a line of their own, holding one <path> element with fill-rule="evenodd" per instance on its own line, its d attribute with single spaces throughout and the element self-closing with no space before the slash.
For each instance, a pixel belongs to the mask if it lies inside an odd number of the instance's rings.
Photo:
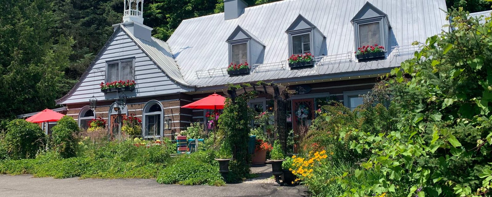
<svg viewBox="0 0 492 197">
<path fill-rule="evenodd" d="M 36 151 L 44 145 L 45 134 L 34 123 L 15 119 L 7 125 L 3 139 L 7 152 L 12 159 L 34 158 Z"/>
</svg>

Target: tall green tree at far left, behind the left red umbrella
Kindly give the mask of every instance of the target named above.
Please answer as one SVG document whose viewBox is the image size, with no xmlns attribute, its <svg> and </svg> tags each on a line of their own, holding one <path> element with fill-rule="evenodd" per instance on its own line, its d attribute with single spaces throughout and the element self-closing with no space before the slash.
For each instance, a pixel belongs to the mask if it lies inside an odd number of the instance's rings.
<svg viewBox="0 0 492 197">
<path fill-rule="evenodd" d="M 54 31 L 52 9 L 47 0 L 0 3 L 0 119 L 55 107 L 72 85 L 63 70 L 74 41 Z"/>
</svg>

